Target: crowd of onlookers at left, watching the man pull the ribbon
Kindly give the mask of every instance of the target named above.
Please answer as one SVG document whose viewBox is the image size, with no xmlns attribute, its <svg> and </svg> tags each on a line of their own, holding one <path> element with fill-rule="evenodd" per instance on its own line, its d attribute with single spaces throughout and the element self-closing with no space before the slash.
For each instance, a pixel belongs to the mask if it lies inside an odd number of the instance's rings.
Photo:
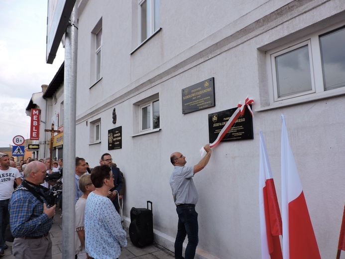
<svg viewBox="0 0 345 259">
<path fill-rule="evenodd" d="M 76 157 L 75 165 L 76 258 L 118 258 L 127 243 L 119 216 L 123 173 L 109 153 L 93 169 L 81 157 Z M 4 239 L 10 229 L 16 259 L 52 258 L 49 231 L 57 205 L 50 204 L 47 187 L 55 182 L 45 182 L 45 178 L 62 168 L 62 158 L 27 158 L 16 163 L 14 157 L 0 156 L 0 257 L 8 248 Z"/>
</svg>

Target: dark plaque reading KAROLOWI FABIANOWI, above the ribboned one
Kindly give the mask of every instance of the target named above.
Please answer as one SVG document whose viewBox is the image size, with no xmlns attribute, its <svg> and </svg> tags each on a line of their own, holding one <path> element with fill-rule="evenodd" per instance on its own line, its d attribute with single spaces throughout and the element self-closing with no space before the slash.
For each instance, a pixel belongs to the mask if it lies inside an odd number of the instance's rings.
<svg viewBox="0 0 345 259">
<path fill-rule="evenodd" d="M 182 114 L 192 113 L 215 105 L 214 77 L 182 89 Z"/>
</svg>

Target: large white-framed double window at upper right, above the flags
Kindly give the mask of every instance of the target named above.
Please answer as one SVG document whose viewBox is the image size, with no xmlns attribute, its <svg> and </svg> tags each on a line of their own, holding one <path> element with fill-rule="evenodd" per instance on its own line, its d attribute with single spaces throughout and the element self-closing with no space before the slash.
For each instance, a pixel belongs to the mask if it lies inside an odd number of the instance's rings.
<svg viewBox="0 0 345 259">
<path fill-rule="evenodd" d="M 270 103 L 345 93 L 345 26 L 328 28 L 266 53 Z"/>
</svg>

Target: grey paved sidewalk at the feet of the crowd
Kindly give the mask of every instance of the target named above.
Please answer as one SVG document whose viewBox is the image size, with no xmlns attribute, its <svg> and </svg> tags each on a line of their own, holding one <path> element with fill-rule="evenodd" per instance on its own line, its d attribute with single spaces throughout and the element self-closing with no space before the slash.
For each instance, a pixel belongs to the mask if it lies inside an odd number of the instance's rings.
<svg viewBox="0 0 345 259">
<path fill-rule="evenodd" d="M 60 219 L 61 212 L 56 210 L 56 215 L 53 219 L 53 226 L 50 230 L 50 238 L 53 243 L 52 259 L 62 259 L 62 219 Z M 130 242 L 128 229 L 127 232 L 127 247 L 121 251 L 119 259 L 174 259 L 174 253 L 153 243 L 150 246 L 137 248 Z M 5 250 L 5 256 L 1 259 L 14 259 L 12 255 L 12 243 L 6 242 L 8 249 Z"/>
</svg>

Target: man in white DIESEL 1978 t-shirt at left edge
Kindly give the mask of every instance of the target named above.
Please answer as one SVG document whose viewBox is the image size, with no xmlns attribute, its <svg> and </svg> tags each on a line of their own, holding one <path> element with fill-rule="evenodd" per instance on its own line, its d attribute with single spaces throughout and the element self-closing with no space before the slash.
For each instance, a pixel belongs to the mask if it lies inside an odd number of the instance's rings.
<svg viewBox="0 0 345 259">
<path fill-rule="evenodd" d="M 13 193 L 14 181 L 17 186 L 21 184 L 18 169 L 9 167 L 9 157 L 7 154 L 0 156 L 0 257 L 4 256 L 7 245 L 4 240 L 4 233 L 9 223 L 8 203 Z"/>
</svg>

